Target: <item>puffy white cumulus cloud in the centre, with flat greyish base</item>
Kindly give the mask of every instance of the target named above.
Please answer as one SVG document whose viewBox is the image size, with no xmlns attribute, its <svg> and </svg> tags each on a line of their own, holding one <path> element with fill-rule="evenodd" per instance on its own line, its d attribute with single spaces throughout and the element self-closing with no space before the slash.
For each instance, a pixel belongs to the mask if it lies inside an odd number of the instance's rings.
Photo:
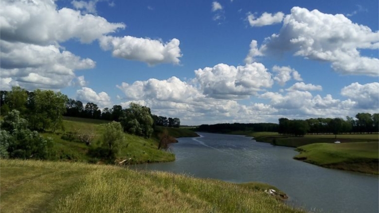
<svg viewBox="0 0 379 213">
<path fill-rule="evenodd" d="M 203 94 L 214 98 L 246 98 L 273 84 L 271 74 L 261 63 L 244 66 L 217 64 L 195 70 Z"/>
</svg>

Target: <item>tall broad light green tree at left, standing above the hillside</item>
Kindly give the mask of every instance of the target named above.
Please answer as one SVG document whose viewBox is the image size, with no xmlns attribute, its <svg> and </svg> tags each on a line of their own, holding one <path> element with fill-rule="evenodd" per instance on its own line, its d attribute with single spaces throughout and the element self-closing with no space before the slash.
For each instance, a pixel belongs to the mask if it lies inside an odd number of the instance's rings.
<svg viewBox="0 0 379 213">
<path fill-rule="evenodd" d="M 51 128 L 53 132 L 63 129 L 63 114 L 66 112 L 68 98 L 61 92 L 52 90 L 34 91 L 36 113 L 40 114 L 42 129 Z"/>
</svg>

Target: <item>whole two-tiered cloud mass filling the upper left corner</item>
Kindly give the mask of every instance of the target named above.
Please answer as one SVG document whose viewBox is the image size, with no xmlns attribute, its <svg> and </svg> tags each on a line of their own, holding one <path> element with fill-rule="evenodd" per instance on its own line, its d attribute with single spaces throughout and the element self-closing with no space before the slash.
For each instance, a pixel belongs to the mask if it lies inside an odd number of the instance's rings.
<svg viewBox="0 0 379 213">
<path fill-rule="evenodd" d="M 100 16 L 82 15 L 79 10 L 58 9 L 50 0 L 2 0 L 1 78 L 6 78 L 9 85 L 29 90 L 59 90 L 74 85 L 75 70 L 94 68 L 96 63 L 65 50 L 59 42 L 74 38 L 90 43 L 124 27 Z"/>
</svg>

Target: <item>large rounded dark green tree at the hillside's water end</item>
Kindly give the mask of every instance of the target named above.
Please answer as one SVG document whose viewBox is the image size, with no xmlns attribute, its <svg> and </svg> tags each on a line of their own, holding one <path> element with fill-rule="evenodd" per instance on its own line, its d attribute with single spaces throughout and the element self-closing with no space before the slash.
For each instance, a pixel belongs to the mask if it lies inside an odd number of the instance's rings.
<svg viewBox="0 0 379 213">
<path fill-rule="evenodd" d="M 149 138 L 153 133 L 153 118 L 150 109 L 136 103 L 131 103 L 120 118 L 124 131 Z"/>
</svg>

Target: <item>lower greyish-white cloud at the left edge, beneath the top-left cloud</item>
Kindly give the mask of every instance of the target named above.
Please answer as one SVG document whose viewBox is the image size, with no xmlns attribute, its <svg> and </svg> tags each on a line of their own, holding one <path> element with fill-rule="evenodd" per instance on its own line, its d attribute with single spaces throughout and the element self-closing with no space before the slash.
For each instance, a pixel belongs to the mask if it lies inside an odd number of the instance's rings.
<svg viewBox="0 0 379 213">
<path fill-rule="evenodd" d="M 95 67 L 89 58 L 80 58 L 53 45 L 0 42 L 1 78 L 11 78 L 26 89 L 60 89 L 71 84 L 77 69 Z"/>
</svg>

